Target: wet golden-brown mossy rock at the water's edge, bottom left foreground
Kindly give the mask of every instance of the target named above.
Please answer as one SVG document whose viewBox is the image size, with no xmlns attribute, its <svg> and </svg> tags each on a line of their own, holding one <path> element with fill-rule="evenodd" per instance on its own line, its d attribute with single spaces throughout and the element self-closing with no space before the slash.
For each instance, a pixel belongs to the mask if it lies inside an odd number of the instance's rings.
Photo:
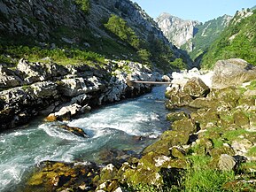
<svg viewBox="0 0 256 192">
<path fill-rule="evenodd" d="M 82 186 L 96 188 L 93 178 L 98 174 L 97 165 L 87 163 L 66 164 L 45 161 L 27 180 L 26 191 L 59 191 L 66 188 L 79 190 Z"/>
</svg>

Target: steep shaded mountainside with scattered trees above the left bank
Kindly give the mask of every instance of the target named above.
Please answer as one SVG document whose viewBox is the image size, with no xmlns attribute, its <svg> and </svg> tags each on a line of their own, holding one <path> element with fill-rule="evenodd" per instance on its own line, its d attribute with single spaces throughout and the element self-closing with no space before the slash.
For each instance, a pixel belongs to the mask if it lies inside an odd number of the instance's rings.
<svg viewBox="0 0 256 192">
<path fill-rule="evenodd" d="M 105 27 L 113 15 L 123 23 L 123 31 Z M 20 57 L 29 59 L 31 55 L 30 49 L 8 51 L 7 45 L 44 50 L 72 48 L 93 51 L 106 58 L 167 66 L 171 66 L 175 58 L 185 58 L 167 41 L 157 23 L 129 0 L 3 0 L 0 2 L 0 33 L 1 61 L 5 63 Z M 126 38 L 122 38 L 125 35 Z"/>
</svg>

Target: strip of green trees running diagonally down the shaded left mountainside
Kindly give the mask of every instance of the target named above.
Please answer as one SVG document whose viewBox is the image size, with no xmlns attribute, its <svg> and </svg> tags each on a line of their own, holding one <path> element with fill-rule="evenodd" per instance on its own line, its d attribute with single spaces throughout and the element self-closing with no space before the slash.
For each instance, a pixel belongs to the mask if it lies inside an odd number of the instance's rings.
<svg viewBox="0 0 256 192">
<path fill-rule="evenodd" d="M 137 59 L 143 63 L 155 63 L 159 68 L 170 70 L 185 68 L 182 58 L 175 61 L 173 51 L 167 43 L 159 40 L 155 35 L 148 35 L 147 42 L 139 39 L 136 32 L 128 27 L 128 23 L 117 15 L 111 15 L 105 28 L 122 42 L 128 43 L 136 50 Z"/>
</svg>

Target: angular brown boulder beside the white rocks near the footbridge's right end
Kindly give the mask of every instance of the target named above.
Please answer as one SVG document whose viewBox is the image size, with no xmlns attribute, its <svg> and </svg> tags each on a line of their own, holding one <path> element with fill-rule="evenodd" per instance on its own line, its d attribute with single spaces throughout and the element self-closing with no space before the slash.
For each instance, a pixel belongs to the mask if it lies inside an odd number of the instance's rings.
<svg viewBox="0 0 256 192">
<path fill-rule="evenodd" d="M 207 94 L 210 92 L 210 88 L 206 86 L 204 81 L 197 77 L 193 77 L 189 81 L 187 81 L 183 90 L 192 98 L 206 97 Z"/>
</svg>

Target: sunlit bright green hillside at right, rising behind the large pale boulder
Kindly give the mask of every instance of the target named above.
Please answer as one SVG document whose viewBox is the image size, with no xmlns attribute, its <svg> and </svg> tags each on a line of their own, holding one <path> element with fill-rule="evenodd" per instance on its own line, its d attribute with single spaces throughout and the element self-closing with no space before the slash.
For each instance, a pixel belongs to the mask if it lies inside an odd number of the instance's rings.
<svg viewBox="0 0 256 192">
<path fill-rule="evenodd" d="M 243 58 L 256 65 L 256 11 L 241 19 L 238 14 L 231 20 L 221 36 L 213 42 L 202 59 L 202 66 L 211 68 L 217 60 Z"/>
</svg>

